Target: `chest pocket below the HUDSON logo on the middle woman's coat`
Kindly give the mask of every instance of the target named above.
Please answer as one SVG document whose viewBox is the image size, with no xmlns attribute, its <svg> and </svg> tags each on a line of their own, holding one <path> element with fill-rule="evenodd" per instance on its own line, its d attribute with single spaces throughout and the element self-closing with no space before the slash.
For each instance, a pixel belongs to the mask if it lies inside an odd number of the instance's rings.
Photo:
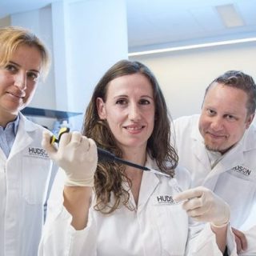
<svg viewBox="0 0 256 256">
<path fill-rule="evenodd" d="M 188 237 L 188 217 L 182 204 L 154 206 L 164 255 L 183 256 Z"/>
</svg>

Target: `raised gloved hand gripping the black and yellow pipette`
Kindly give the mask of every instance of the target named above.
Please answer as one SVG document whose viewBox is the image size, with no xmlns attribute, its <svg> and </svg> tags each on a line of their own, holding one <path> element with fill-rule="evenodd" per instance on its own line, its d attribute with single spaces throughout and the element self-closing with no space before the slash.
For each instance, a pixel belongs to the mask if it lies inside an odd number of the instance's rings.
<svg viewBox="0 0 256 256">
<path fill-rule="evenodd" d="M 98 154 L 95 142 L 78 132 L 62 134 L 58 148 L 50 144 L 50 134 L 44 132 L 42 146 L 66 172 L 66 186 L 94 186 Z"/>
</svg>

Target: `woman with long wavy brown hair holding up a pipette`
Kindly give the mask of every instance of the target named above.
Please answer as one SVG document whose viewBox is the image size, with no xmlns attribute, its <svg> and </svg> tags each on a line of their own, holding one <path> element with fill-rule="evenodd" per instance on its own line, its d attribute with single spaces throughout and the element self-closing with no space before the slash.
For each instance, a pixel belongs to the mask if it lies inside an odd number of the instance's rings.
<svg viewBox="0 0 256 256">
<path fill-rule="evenodd" d="M 43 146 L 63 171 L 50 196 L 39 255 L 217 256 L 226 242 L 234 242 L 229 206 L 205 188 L 188 190 L 190 176 L 177 167 L 169 143 L 165 99 L 142 63 L 121 61 L 104 74 L 86 110 L 83 134 L 63 134 L 58 149 L 50 145 L 50 134 L 44 136 Z M 94 141 L 160 174 L 118 162 L 97 166 Z M 211 224 L 192 223 L 187 214 Z"/>
</svg>

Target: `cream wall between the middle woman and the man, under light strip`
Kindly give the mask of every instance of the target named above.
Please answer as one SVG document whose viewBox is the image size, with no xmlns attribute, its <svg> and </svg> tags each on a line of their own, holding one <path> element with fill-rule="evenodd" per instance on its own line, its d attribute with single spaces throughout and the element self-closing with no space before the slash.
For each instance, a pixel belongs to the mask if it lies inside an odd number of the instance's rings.
<svg viewBox="0 0 256 256">
<path fill-rule="evenodd" d="M 226 70 L 242 70 L 256 82 L 255 42 L 130 59 L 146 64 L 154 72 L 173 118 L 200 113 L 206 86 Z"/>
</svg>

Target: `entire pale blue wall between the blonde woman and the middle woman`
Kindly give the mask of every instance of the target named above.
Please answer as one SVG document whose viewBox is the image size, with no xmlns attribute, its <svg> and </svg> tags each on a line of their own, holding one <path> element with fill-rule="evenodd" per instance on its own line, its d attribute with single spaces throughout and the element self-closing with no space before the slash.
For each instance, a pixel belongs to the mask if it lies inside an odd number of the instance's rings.
<svg viewBox="0 0 256 256">
<path fill-rule="evenodd" d="M 83 113 L 102 74 L 128 56 L 125 0 L 59 1 L 10 18 L 10 25 L 42 38 L 52 56 L 50 75 L 38 84 L 33 107 Z M 80 130 L 82 119 L 70 118 L 74 130 Z M 46 125 L 52 128 L 52 122 Z"/>
</svg>

